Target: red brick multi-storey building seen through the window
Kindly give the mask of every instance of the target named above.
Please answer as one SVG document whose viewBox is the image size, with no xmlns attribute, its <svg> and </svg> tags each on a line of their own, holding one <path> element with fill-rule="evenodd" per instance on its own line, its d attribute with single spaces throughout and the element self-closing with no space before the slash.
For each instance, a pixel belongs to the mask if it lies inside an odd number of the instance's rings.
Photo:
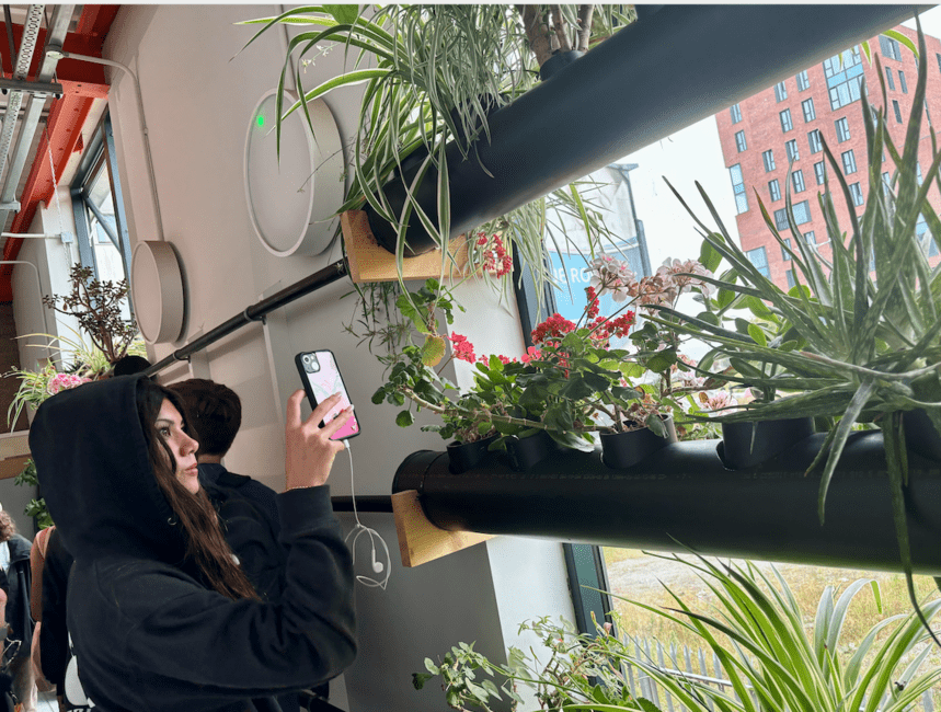
<svg viewBox="0 0 941 712">
<path fill-rule="evenodd" d="M 910 37 L 917 46 L 914 30 L 897 26 L 895 31 Z M 928 115 L 921 126 L 919 170 L 928 171 L 931 165 L 932 120 L 934 130 L 941 134 L 938 128 L 941 126 L 941 42 L 929 36 L 925 41 L 929 62 Z M 890 136 L 899 151 L 905 141 L 918 76 L 915 57 L 910 49 L 885 35 L 871 38 L 869 47 L 872 62 L 867 59 L 863 48 L 857 45 L 715 115 L 722 154 L 738 211 L 736 222 L 742 249 L 754 264 L 765 267 L 766 276 L 782 288 L 794 284 L 790 259 L 765 223 L 756 193 L 781 237 L 792 240 L 784 198 L 789 162 L 793 158 L 790 187 L 794 217 L 804 239 L 816 243 L 825 257 L 829 256 L 827 230 L 817 195 L 823 192 L 823 171 L 833 171 L 833 166 L 825 158 L 818 136 L 823 136 L 840 164 L 854 209 L 861 214 L 869 192 L 869 175 L 860 83 L 864 80 L 869 88 L 870 103 L 882 107 L 875 55 L 882 64 L 885 82 Z M 887 151 L 885 157 L 883 180 L 887 181 L 894 172 L 894 164 Z M 828 175 L 839 225 L 848 230 L 846 202 L 839 195 L 833 174 Z M 929 200 L 936 210 L 941 210 L 937 185 L 931 188 Z M 917 229 L 923 234 L 927 226 L 919 221 Z M 930 234 L 925 234 L 925 250 L 931 264 L 941 261 Z"/>
</svg>

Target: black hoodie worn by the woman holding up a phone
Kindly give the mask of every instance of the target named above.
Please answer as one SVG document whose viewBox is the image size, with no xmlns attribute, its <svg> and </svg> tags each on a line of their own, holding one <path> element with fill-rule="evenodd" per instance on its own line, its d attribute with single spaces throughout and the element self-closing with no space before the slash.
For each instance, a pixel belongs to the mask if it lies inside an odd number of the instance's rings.
<svg viewBox="0 0 941 712">
<path fill-rule="evenodd" d="M 68 628 L 102 712 L 272 710 L 355 656 L 353 567 L 326 485 L 277 495 L 280 602 L 233 601 L 184 562 L 137 416 L 142 376 L 87 383 L 36 412 L 30 448 L 76 565 Z"/>
</svg>

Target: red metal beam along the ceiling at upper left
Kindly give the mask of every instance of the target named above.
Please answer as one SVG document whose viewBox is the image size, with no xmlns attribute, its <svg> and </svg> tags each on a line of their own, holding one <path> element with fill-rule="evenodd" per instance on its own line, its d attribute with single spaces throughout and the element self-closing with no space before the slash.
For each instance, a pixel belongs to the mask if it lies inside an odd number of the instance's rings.
<svg viewBox="0 0 941 712">
<path fill-rule="evenodd" d="M 84 5 L 77 25 L 77 32 L 66 36 L 62 49 L 79 55 L 101 57 L 102 45 L 119 8 L 121 5 Z M 0 25 L 2 24 L 0 23 Z M 4 38 L 5 34 L 7 30 L 3 25 L 0 27 L 0 39 Z M 22 25 L 13 25 L 13 37 L 18 47 L 22 34 Z M 42 48 L 45 38 L 46 31 L 39 30 L 36 46 Z M 9 54 L 8 43 L 0 42 L 0 61 L 2 61 L 3 71 L 7 74 L 12 68 Z M 41 51 L 36 51 L 33 56 L 33 66 L 30 69 L 31 79 L 35 77 L 41 54 Z M 54 101 L 49 108 L 46 130 L 39 140 L 30 175 L 26 179 L 26 185 L 20 196 L 20 213 L 13 219 L 11 232 L 26 232 L 33 222 L 39 202 L 45 200 L 48 205 L 53 197 L 54 185 L 61 180 L 69 158 L 81 140 L 81 129 L 89 116 L 93 100 L 107 96 L 104 69 L 101 65 L 62 59 L 56 66 L 56 74 L 65 89 L 65 93 L 60 100 Z M 55 164 L 55 182 L 53 169 L 49 165 L 50 150 Z M 9 238 L 3 245 L 3 259 L 15 260 L 22 244 L 22 239 Z M 0 301 L 13 299 L 12 267 L 13 265 L 0 265 Z"/>
</svg>

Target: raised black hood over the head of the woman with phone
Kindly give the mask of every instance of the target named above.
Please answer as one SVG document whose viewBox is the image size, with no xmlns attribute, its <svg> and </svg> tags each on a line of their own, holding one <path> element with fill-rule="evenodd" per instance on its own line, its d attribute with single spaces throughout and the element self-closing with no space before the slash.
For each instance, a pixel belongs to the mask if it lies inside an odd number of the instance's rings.
<svg viewBox="0 0 941 712">
<path fill-rule="evenodd" d="M 39 406 L 30 428 L 43 496 L 78 561 L 108 553 L 183 560 L 182 527 L 157 484 L 137 414 L 145 378 L 61 391 Z"/>
</svg>

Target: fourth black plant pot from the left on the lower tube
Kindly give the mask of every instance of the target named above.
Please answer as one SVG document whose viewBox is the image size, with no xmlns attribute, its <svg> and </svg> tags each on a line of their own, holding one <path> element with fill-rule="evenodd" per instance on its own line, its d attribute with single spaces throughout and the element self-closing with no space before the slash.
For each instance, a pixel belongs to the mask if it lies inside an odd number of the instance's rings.
<svg viewBox="0 0 941 712">
<path fill-rule="evenodd" d="M 720 456 L 730 470 L 747 470 L 814 434 L 814 418 L 723 423 Z"/>
</svg>

